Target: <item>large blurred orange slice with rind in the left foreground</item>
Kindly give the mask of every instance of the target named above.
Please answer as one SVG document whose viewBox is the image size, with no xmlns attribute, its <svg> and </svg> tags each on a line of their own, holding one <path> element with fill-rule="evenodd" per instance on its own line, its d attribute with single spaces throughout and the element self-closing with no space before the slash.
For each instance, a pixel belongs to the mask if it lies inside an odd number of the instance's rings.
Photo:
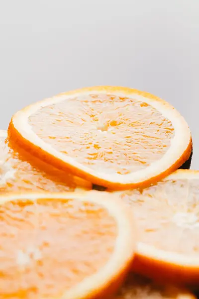
<svg viewBox="0 0 199 299">
<path fill-rule="evenodd" d="M 110 194 L 0 196 L 1 298 L 110 298 L 134 252 L 134 223 Z"/>
</svg>

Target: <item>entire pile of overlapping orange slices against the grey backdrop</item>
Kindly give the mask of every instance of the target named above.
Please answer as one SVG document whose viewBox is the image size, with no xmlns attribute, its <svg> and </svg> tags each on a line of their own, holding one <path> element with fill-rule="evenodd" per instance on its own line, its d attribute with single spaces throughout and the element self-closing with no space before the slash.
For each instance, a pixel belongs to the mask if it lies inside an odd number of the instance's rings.
<svg viewBox="0 0 199 299">
<path fill-rule="evenodd" d="M 181 114 L 131 88 L 16 112 L 0 131 L 0 299 L 196 299 L 192 154 Z"/>
</svg>

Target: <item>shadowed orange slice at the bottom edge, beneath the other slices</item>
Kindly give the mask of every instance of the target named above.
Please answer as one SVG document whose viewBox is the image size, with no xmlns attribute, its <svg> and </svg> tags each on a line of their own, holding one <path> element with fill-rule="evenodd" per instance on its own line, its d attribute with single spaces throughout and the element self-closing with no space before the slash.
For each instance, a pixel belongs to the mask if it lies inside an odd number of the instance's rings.
<svg viewBox="0 0 199 299">
<path fill-rule="evenodd" d="M 196 299 L 186 290 L 162 285 L 145 277 L 129 274 L 115 299 Z"/>
</svg>

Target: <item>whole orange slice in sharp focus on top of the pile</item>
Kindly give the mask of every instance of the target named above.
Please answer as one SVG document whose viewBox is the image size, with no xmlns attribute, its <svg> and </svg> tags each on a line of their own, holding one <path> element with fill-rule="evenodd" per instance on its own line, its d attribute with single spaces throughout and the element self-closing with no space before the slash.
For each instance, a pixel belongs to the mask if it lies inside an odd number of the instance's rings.
<svg viewBox="0 0 199 299">
<path fill-rule="evenodd" d="M 167 102 L 134 89 L 92 87 L 17 112 L 9 138 L 63 170 L 114 189 L 147 185 L 179 168 L 192 140 Z"/>
</svg>

